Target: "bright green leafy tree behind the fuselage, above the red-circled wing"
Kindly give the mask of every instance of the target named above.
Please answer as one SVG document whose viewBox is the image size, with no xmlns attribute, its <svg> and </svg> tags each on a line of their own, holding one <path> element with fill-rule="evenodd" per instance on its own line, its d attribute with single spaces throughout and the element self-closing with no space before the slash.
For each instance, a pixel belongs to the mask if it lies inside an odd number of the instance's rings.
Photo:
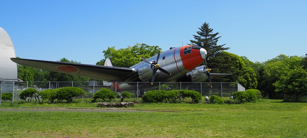
<svg viewBox="0 0 307 138">
<path fill-rule="evenodd" d="M 114 66 L 117 67 L 131 67 L 141 62 L 140 57 L 145 59 L 158 54 L 159 46 L 150 46 L 146 44 L 137 43 L 134 46 L 128 46 L 125 49 L 116 50 L 115 47 L 108 47 L 107 50 L 103 50 L 104 57 L 110 57 Z M 96 63 L 96 65 L 104 65 L 106 60 L 102 59 Z"/>
</svg>

